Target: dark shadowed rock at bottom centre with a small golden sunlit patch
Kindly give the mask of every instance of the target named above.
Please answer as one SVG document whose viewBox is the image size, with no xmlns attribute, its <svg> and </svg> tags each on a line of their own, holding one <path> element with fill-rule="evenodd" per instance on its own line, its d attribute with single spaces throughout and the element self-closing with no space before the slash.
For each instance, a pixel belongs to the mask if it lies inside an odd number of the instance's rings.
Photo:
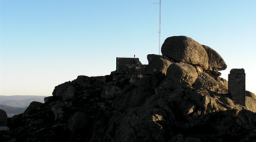
<svg viewBox="0 0 256 142">
<path fill-rule="evenodd" d="M 161 129 L 167 122 L 166 113 L 156 108 L 130 109 L 121 118 L 115 141 L 166 141 Z M 153 118 L 155 117 L 155 118 Z M 158 119 L 162 118 L 162 119 Z M 144 120 L 144 121 L 142 121 Z M 154 122 L 155 120 L 155 122 Z M 149 134 L 150 133 L 150 134 Z"/>
</svg>

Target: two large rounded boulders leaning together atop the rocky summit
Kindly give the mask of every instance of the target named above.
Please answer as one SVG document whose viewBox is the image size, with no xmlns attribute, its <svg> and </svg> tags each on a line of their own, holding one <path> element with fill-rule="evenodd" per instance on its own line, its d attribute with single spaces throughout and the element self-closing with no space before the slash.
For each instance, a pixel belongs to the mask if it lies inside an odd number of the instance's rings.
<svg viewBox="0 0 256 142">
<path fill-rule="evenodd" d="M 176 62 L 200 66 L 213 73 L 227 69 L 227 64 L 219 53 L 185 36 L 167 38 L 162 45 L 162 55 Z"/>
</svg>

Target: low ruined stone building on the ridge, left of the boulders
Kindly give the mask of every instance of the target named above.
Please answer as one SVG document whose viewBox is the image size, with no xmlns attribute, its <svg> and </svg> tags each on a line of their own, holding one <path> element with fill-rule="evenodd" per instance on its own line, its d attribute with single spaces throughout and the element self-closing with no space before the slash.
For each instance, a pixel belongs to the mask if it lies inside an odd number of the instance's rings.
<svg viewBox="0 0 256 142">
<path fill-rule="evenodd" d="M 117 57 L 117 67 L 116 70 L 119 72 L 123 66 L 128 66 L 132 64 L 139 64 L 139 58 L 129 58 L 129 57 Z"/>
</svg>

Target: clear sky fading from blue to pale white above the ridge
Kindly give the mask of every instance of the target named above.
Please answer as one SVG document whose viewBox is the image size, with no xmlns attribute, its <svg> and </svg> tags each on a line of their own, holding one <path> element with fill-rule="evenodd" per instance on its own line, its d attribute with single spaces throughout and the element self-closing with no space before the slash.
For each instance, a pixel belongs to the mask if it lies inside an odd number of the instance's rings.
<svg viewBox="0 0 256 142">
<path fill-rule="evenodd" d="M 1 1 L 1 95 L 51 96 L 79 75 L 105 76 L 116 57 L 148 64 L 158 54 L 159 6 L 151 0 Z M 157 0 L 153 2 L 158 2 Z M 186 35 L 244 68 L 256 93 L 255 0 L 162 0 L 162 42 Z"/>
</svg>

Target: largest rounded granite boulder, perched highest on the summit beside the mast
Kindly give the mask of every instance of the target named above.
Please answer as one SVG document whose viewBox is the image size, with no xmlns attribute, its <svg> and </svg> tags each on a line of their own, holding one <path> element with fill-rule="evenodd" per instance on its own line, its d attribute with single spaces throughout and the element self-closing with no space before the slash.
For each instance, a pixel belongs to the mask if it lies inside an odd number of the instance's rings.
<svg viewBox="0 0 256 142">
<path fill-rule="evenodd" d="M 198 42 L 186 36 L 174 36 L 165 39 L 162 45 L 162 55 L 176 62 L 185 62 L 208 69 L 208 55 Z"/>
</svg>

